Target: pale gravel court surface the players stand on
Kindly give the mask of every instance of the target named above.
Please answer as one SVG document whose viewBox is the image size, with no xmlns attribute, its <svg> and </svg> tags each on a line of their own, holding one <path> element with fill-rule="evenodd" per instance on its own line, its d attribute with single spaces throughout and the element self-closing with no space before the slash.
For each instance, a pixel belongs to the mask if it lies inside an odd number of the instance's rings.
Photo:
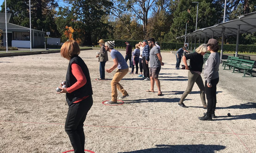
<svg viewBox="0 0 256 153">
<path fill-rule="evenodd" d="M 85 149 L 96 153 L 255 152 L 255 99 L 241 98 L 248 94 L 242 90 L 246 84 L 225 84 L 226 74 L 231 72 L 220 67 L 216 109 L 219 117 L 200 121 L 198 117 L 206 111 L 196 84 L 184 101 L 189 108 L 177 106 L 187 87 L 187 70 L 174 69 L 175 54 L 161 53 L 166 63 L 159 75 L 163 96 L 145 91 L 150 89 L 150 81 L 127 74 L 120 84 L 130 96 L 123 99 L 123 105 L 106 106 L 102 101 L 111 98 L 111 80 L 95 80 L 99 78 L 96 52 L 80 54 L 89 68 L 94 91 L 94 104 L 84 127 Z M 120 52 L 125 55 L 125 51 Z M 106 69 L 113 65 L 110 53 L 109 60 Z M 65 80 L 67 66 L 68 60 L 59 53 L 0 58 L 2 152 L 61 153 L 72 149 L 64 130 L 68 110 L 65 95 L 55 93 Z M 114 72 L 106 73 L 105 78 L 112 79 L 113 75 Z M 255 78 L 243 80 L 250 81 L 249 86 L 255 84 Z M 234 94 L 233 88 L 241 88 L 241 93 Z M 250 92 L 256 93 L 255 88 Z"/>
</svg>

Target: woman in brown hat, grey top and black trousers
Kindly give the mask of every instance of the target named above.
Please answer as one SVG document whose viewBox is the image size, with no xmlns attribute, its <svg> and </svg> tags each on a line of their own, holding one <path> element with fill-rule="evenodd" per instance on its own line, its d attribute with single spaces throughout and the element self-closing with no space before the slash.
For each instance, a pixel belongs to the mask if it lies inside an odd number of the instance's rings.
<svg viewBox="0 0 256 153">
<path fill-rule="evenodd" d="M 205 79 L 205 94 L 207 98 L 207 113 L 204 113 L 203 117 L 199 117 L 200 120 L 212 120 L 215 118 L 216 108 L 216 86 L 219 82 L 219 64 L 221 59 L 218 54 L 219 46 L 216 39 L 210 39 L 208 41 L 207 49 L 211 52 L 208 60 L 204 66 L 204 79 Z"/>
</svg>

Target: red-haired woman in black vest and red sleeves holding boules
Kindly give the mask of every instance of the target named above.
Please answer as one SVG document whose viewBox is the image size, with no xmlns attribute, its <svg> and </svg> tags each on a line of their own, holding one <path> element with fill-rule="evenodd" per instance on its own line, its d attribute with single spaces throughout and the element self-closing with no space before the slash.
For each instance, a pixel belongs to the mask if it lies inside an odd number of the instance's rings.
<svg viewBox="0 0 256 153">
<path fill-rule="evenodd" d="M 68 88 L 62 88 L 60 93 L 66 93 L 66 100 L 69 105 L 65 123 L 71 145 L 75 153 L 84 153 L 84 121 L 88 111 L 93 105 L 93 90 L 89 70 L 79 57 L 80 48 L 74 40 L 66 41 L 61 47 L 60 54 L 69 60 L 66 75 Z"/>
</svg>

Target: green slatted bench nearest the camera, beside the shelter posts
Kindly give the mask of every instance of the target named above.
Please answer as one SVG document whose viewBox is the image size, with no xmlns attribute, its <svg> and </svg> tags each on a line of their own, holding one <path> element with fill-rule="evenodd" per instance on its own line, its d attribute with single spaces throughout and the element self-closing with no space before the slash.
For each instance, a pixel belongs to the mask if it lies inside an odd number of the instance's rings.
<svg viewBox="0 0 256 153">
<path fill-rule="evenodd" d="M 252 72 L 253 72 L 254 63 L 255 63 L 255 61 L 249 61 L 249 60 L 243 60 L 240 58 L 231 57 L 229 63 L 224 63 L 224 70 L 227 70 L 226 66 L 229 67 L 228 70 L 230 70 L 230 68 L 233 67 L 232 73 L 236 73 L 236 72 L 234 72 L 235 69 L 238 69 L 238 73 L 241 73 L 240 70 L 244 70 L 243 77 L 246 77 L 245 74 L 247 72 L 250 73 L 250 77 L 253 77 Z"/>
</svg>

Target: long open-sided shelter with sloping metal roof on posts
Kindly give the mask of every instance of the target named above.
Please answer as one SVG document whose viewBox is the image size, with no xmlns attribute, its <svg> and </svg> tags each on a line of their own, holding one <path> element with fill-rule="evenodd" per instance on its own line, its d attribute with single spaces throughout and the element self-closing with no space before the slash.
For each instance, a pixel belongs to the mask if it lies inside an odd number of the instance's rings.
<svg viewBox="0 0 256 153">
<path fill-rule="evenodd" d="M 236 46 L 236 56 L 238 54 L 238 45 L 239 45 L 239 34 L 241 33 L 253 33 L 256 32 L 256 12 L 252 12 L 249 14 L 245 14 L 239 16 L 237 19 L 230 20 L 224 23 L 216 24 L 212 27 L 203 28 L 194 31 L 193 33 L 189 33 L 177 38 L 191 38 L 191 46 L 192 46 L 192 38 L 195 38 L 195 47 L 196 47 L 196 39 L 199 38 L 199 45 L 201 36 L 204 37 L 204 44 L 206 43 L 206 37 L 222 37 L 222 45 L 221 45 L 221 60 L 223 53 L 223 42 L 224 36 L 237 36 L 237 46 Z M 176 38 L 176 39 L 177 39 Z"/>
</svg>

